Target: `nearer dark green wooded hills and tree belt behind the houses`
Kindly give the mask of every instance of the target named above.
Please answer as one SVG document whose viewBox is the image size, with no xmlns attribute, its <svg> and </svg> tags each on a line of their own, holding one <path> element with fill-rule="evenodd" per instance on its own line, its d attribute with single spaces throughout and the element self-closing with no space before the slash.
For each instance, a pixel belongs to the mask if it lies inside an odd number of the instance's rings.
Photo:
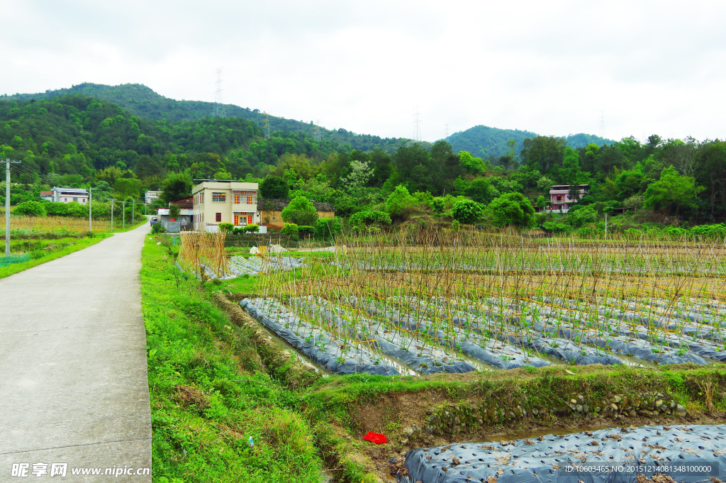
<svg viewBox="0 0 726 483">
<path fill-rule="evenodd" d="M 518 192 L 545 206 L 551 184 L 589 184 L 590 193 L 579 205 L 594 203 L 600 212 L 625 206 L 693 222 L 726 218 L 726 142 L 718 139 L 653 134 L 645 144 L 629 137 L 574 149 L 563 137 L 476 129 L 504 154 L 497 157 L 489 147 L 484 157 L 481 150 L 470 153 L 444 140 L 386 144 L 358 137 L 354 145 L 283 130 L 268 138 L 256 120 L 150 119 L 83 94 L 0 98 L 0 153 L 23 161 L 12 174 L 12 181 L 20 183 L 13 190 L 23 191 L 14 194 L 17 200 L 21 194 L 37 198 L 47 189 L 39 181 L 101 184 L 123 198 L 180 177 L 190 190 L 192 179 L 278 176 L 275 182 L 285 184 L 290 196 L 333 203 L 340 216 L 385 210 L 393 219 L 405 219 L 417 203 L 430 206 L 432 197 L 444 195 L 454 197 L 446 198 L 449 202 L 470 198 L 486 206 Z M 462 134 L 452 140 L 458 142 Z M 346 139 L 345 132 L 340 135 Z M 584 134 L 571 137 L 580 144 L 593 140 Z M 391 204 L 391 196 L 398 201 Z"/>
</svg>

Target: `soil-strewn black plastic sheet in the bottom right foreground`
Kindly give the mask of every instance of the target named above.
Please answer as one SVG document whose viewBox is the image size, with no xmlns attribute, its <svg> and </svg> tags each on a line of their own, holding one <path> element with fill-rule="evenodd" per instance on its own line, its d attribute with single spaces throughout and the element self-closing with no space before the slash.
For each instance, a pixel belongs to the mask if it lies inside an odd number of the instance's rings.
<svg viewBox="0 0 726 483">
<path fill-rule="evenodd" d="M 726 480 L 726 426 L 643 426 L 510 442 L 464 443 L 406 453 L 399 483 L 678 483 Z M 579 470 L 576 470 L 579 467 Z M 608 471 L 615 467 L 616 471 Z M 658 470 L 657 468 L 661 468 Z M 571 470 L 571 471 L 568 471 Z"/>
</svg>

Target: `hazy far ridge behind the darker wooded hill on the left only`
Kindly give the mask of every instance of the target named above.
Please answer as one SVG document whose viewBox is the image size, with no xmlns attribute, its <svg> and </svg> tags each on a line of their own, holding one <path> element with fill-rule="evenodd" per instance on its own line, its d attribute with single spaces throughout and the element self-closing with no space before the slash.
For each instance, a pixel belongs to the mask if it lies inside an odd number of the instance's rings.
<svg viewBox="0 0 726 483">
<path fill-rule="evenodd" d="M 155 121 L 166 120 L 195 121 L 208 118 L 213 115 L 214 103 L 203 101 L 177 101 L 157 94 L 152 89 L 142 84 L 121 84 L 118 86 L 106 86 L 103 84 L 78 84 L 70 89 L 48 90 L 36 94 L 14 94 L 2 96 L 1 100 L 7 101 L 29 101 L 49 100 L 54 97 L 67 96 L 69 94 L 82 94 L 86 97 L 94 97 L 113 102 L 118 107 L 129 113 Z M 314 135 L 315 126 L 313 121 L 303 122 L 294 119 L 269 115 L 259 109 L 240 107 L 227 104 L 224 106 L 228 118 L 240 118 L 254 121 L 258 126 L 264 128 L 266 121 L 269 122 L 271 131 L 290 131 Z M 407 145 L 410 139 L 406 138 L 381 138 L 371 134 L 356 134 L 346 129 L 325 129 L 320 128 L 322 137 L 337 142 L 341 145 L 348 144 L 358 150 L 372 150 L 374 147 L 393 152 L 399 146 Z"/>
</svg>

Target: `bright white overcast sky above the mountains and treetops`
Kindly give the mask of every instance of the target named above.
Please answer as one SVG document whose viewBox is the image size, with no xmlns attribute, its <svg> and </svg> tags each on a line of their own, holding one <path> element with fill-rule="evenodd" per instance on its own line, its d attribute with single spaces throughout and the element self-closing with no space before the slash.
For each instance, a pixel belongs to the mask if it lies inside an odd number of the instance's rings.
<svg viewBox="0 0 726 483">
<path fill-rule="evenodd" d="M 0 94 L 145 84 L 328 129 L 726 136 L 726 2 L 0 0 Z M 604 119 L 604 131 L 602 121 Z M 274 126 L 273 126 L 274 127 Z"/>
</svg>

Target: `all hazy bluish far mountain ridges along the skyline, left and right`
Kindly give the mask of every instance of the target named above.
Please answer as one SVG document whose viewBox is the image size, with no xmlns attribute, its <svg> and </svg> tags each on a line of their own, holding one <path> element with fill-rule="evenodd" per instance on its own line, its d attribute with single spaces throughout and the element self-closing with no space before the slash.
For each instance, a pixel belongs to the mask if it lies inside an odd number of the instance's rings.
<svg viewBox="0 0 726 483">
<path fill-rule="evenodd" d="M 67 89 L 47 90 L 46 92 L 38 92 L 36 94 L 14 94 L 2 98 L 7 101 L 46 100 L 67 94 L 83 94 L 89 97 L 97 97 L 113 102 L 123 110 L 129 111 L 129 113 L 157 121 L 164 119 L 170 122 L 193 121 L 211 116 L 214 109 L 214 102 L 174 100 L 158 94 L 143 84 L 107 86 L 105 84 L 91 84 L 86 82 L 71 86 Z M 224 107 L 227 112 L 227 117 L 247 119 L 249 121 L 255 121 L 259 126 L 264 126 L 266 115 L 258 109 L 250 109 L 249 107 L 240 107 L 233 104 L 226 104 Z M 269 116 L 269 123 L 272 131 L 293 131 L 314 134 L 315 129 L 312 123 L 272 115 Z M 402 145 L 412 144 L 412 140 L 408 138 L 381 138 L 371 134 L 355 134 L 342 128 L 335 130 L 320 128 L 320 131 L 326 139 L 331 139 L 340 144 L 348 144 L 354 149 L 364 151 L 372 150 L 374 147 L 380 147 L 392 153 Z M 465 131 L 456 132 L 446 137 L 446 141 L 451 143 L 456 153 L 464 150 L 475 156 L 487 158 L 489 155 L 499 157 L 506 154 L 509 150 L 507 141 L 510 139 L 514 139 L 516 143 L 515 153 L 519 153 L 522 150 L 524 139 L 537 135 L 537 133 L 532 131 L 498 129 L 480 125 L 473 126 Z M 614 142 L 611 139 L 603 139 L 592 134 L 571 134 L 564 137 L 564 139 L 567 140 L 568 145 L 574 148 L 584 147 L 590 142 L 594 142 L 600 146 Z M 421 144 L 429 145 L 428 142 Z"/>
</svg>

